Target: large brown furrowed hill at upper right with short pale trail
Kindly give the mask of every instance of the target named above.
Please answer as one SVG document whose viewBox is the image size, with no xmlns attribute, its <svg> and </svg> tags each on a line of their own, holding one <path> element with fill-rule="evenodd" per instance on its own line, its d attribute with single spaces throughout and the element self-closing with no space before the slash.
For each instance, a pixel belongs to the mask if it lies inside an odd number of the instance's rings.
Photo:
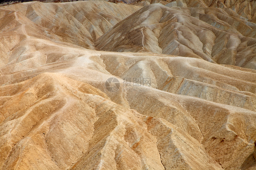
<svg viewBox="0 0 256 170">
<path fill-rule="evenodd" d="M 256 24 L 231 9 L 151 4 L 96 41 L 104 51 L 153 52 L 256 69 Z"/>
</svg>

